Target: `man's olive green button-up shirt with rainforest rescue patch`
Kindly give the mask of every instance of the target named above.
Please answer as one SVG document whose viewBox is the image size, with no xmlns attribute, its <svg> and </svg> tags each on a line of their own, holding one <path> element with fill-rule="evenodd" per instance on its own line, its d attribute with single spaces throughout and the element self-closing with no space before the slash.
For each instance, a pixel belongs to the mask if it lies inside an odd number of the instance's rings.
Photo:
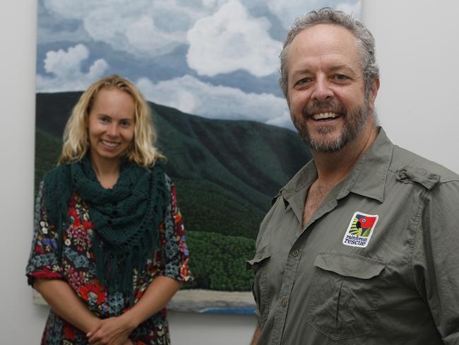
<svg viewBox="0 0 459 345">
<path fill-rule="evenodd" d="M 459 344 L 459 176 L 374 144 L 302 228 L 309 162 L 256 241 L 262 345 Z"/>
</svg>

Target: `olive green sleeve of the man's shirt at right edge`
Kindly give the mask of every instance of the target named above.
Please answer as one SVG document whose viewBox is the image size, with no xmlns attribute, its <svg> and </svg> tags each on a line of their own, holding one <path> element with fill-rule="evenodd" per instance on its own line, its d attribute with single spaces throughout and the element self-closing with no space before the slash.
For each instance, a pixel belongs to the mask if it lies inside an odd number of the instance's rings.
<svg viewBox="0 0 459 345">
<path fill-rule="evenodd" d="M 413 251 L 420 295 L 446 345 L 459 344 L 459 181 L 424 194 Z"/>
</svg>

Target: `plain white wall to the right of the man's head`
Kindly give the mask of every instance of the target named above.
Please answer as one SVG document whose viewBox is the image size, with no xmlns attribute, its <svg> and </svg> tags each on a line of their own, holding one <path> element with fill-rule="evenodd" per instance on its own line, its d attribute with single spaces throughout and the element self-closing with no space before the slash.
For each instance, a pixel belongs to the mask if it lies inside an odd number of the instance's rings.
<svg viewBox="0 0 459 345">
<path fill-rule="evenodd" d="M 376 39 L 376 110 L 389 138 L 459 172 L 459 3 L 364 0 Z"/>
</svg>

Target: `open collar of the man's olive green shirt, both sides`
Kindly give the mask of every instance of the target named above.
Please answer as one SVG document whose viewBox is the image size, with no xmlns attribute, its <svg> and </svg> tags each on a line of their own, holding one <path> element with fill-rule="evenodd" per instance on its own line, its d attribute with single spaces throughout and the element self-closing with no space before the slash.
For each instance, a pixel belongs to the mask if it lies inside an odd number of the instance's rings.
<svg viewBox="0 0 459 345">
<path fill-rule="evenodd" d="M 378 131 L 374 143 L 359 158 L 347 179 L 340 183 L 342 188 L 336 199 L 342 199 L 352 192 L 383 202 L 387 172 L 392 160 L 393 144 L 381 127 L 378 128 Z M 316 179 L 316 164 L 314 160 L 310 160 L 282 188 L 281 194 L 285 201 L 285 208 L 288 204 L 292 206 L 301 204 L 304 207 L 306 191 Z"/>
</svg>

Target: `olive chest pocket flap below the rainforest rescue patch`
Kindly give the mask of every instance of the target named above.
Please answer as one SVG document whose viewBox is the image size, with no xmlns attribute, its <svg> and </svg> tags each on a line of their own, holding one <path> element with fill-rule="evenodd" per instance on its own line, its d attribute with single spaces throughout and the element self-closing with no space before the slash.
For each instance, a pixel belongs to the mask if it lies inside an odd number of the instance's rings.
<svg viewBox="0 0 459 345">
<path fill-rule="evenodd" d="M 386 262 L 362 257 L 362 255 L 322 252 L 314 260 L 314 266 L 332 271 L 341 276 L 353 276 L 359 279 L 370 279 L 378 276 Z"/>
</svg>

